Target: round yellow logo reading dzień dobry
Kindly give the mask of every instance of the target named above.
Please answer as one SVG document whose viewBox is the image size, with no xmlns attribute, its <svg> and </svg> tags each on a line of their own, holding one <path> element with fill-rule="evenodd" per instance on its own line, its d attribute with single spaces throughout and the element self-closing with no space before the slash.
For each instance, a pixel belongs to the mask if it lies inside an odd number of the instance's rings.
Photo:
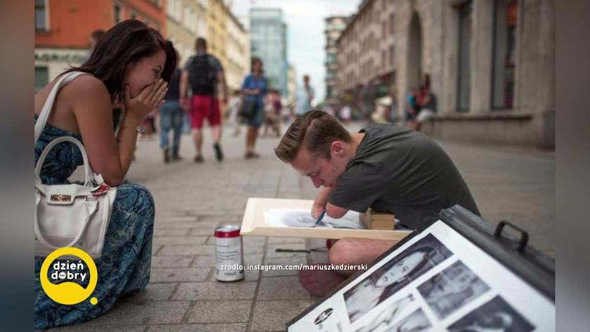
<svg viewBox="0 0 590 332">
<path fill-rule="evenodd" d="M 59 284 L 51 283 L 51 281 L 49 281 L 47 272 L 49 271 L 51 263 L 58 257 L 64 255 L 73 255 L 81 258 L 81 260 L 86 263 L 88 272 L 83 272 L 84 266 L 81 264 L 81 261 L 78 261 L 77 263 L 70 263 L 70 261 L 67 261 L 67 263 L 55 262 L 53 264 L 55 272 L 52 273 L 51 278 L 54 280 L 81 279 L 84 281 L 89 277 L 89 284 L 86 288 L 72 281 L 65 281 Z M 88 274 L 90 274 L 90 276 L 88 276 Z M 45 293 L 51 298 L 51 300 L 62 305 L 76 305 L 79 302 L 86 300 L 92 294 L 94 288 L 96 288 L 96 282 L 98 281 L 98 272 L 96 271 L 94 260 L 92 260 L 92 257 L 84 252 L 84 250 L 71 247 L 59 248 L 49 254 L 43 261 L 43 265 L 41 265 L 40 279 L 41 287 L 43 287 L 43 290 L 45 290 Z M 91 298 L 90 302 L 93 305 L 96 305 L 98 300 L 96 298 Z"/>
</svg>

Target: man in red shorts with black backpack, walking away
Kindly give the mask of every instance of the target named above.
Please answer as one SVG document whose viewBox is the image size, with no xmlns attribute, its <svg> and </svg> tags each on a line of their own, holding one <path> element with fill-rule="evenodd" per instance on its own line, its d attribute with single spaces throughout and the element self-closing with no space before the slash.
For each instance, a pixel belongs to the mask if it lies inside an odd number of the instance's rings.
<svg viewBox="0 0 590 332">
<path fill-rule="evenodd" d="M 228 102 L 228 86 L 225 83 L 225 74 L 219 60 L 207 53 L 207 43 L 204 38 L 197 38 L 195 42 L 195 56 L 191 56 L 183 68 L 181 75 L 181 101 L 184 105 L 190 105 L 190 124 L 192 138 L 195 140 L 197 155 L 195 162 L 203 162 L 201 153 L 203 141 L 203 120 L 209 121 L 213 134 L 215 157 L 223 160 L 221 151 L 221 112 L 219 110 L 218 84 L 223 89 L 223 103 Z M 188 84 L 192 91 L 192 98 L 187 101 Z"/>
</svg>

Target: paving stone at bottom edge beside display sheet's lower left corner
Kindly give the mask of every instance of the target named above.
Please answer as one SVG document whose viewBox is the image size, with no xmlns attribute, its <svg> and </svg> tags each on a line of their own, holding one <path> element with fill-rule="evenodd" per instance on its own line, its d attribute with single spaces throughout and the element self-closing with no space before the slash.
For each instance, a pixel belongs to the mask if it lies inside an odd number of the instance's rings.
<svg viewBox="0 0 590 332">
<path fill-rule="evenodd" d="M 250 331 L 284 331 L 287 321 L 309 306 L 309 300 L 256 301 Z"/>
</svg>

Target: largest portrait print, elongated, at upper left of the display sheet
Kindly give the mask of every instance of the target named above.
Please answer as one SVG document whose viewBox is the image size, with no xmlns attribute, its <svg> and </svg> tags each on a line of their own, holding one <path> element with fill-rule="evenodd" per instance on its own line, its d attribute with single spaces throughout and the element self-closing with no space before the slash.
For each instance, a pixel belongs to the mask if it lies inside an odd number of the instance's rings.
<svg viewBox="0 0 590 332">
<path fill-rule="evenodd" d="M 343 294 L 350 323 L 452 255 L 428 234 Z"/>
</svg>

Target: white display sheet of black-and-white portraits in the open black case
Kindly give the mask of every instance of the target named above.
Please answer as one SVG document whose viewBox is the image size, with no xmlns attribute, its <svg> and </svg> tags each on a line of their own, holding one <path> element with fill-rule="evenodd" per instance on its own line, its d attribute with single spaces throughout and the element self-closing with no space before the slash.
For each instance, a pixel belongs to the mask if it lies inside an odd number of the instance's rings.
<svg viewBox="0 0 590 332">
<path fill-rule="evenodd" d="M 436 222 L 321 300 L 289 331 L 549 332 L 555 303 Z"/>
</svg>

